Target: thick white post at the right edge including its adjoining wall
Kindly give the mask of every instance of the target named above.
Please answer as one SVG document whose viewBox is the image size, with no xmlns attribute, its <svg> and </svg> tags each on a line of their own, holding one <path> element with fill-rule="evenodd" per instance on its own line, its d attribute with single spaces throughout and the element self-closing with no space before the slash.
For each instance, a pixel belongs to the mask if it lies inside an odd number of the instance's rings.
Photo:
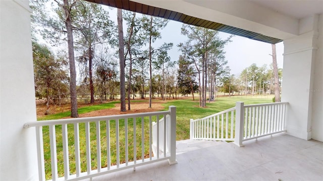
<svg viewBox="0 0 323 181">
<path fill-rule="evenodd" d="M 300 35 L 284 40 L 282 102 L 289 102 L 286 130 L 305 140 L 323 141 L 322 18 L 301 19 Z"/>
</svg>

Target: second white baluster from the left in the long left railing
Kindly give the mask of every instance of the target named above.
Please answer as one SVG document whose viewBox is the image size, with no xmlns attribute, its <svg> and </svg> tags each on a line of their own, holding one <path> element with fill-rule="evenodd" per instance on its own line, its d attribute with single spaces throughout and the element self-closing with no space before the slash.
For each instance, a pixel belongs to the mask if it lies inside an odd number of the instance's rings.
<svg viewBox="0 0 323 181">
<path fill-rule="evenodd" d="M 57 152 L 56 152 L 56 131 L 55 125 L 49 126 L 49 142 L 50 142 L 50 161 L 51 161 L 51 179 L 57 180 Z"/>
</svg>

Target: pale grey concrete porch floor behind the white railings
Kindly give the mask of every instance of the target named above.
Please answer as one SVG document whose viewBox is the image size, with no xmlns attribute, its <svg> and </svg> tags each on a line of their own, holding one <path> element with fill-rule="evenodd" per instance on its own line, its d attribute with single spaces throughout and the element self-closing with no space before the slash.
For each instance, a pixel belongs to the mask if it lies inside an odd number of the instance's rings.
<svg viewBox="0 0 323 181">
<path fill-rule="evenodd" d="M 177 164 L 137 166 L 93 180 L 323 180 L 323 143 L 285 133 L 243 142 L 177 142 Z"/>
</svg>

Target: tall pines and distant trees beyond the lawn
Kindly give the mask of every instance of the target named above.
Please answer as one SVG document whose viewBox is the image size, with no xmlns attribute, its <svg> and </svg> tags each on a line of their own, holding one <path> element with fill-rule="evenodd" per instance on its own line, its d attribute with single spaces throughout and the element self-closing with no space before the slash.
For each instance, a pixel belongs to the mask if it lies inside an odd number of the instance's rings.
<svg viewBox="0 0 323 181">
<path fill-rule="evenodd" d="M 126 99 L 131 110 L 130 100 L 137 95 L 149 97 L 151 108 L 154 97 L 191 94 L 194 100 L 197 93 L 205 107 L 218 91 L 272 91 L 266 67 L 251 65 L 239 78 L 230 75 L 224 47 L 231 36 L 221 40 L 217 31 L 183 25 L 187 41 L 177 45 L 182 54 L 172 60 L 172 42 L 154 47 L 169 20 L 123 10 L 112 20 L 101 5 L 79 0 L 31 1 L 31 8 L 35 91 L 46 100 L 46 114 L 49 104 L 64 100 L 70 101 L 71 117 L 78 117 L 80 99 L 92 104 L 120 96 L 121 111 L 126 111 Z"/>
</svg>

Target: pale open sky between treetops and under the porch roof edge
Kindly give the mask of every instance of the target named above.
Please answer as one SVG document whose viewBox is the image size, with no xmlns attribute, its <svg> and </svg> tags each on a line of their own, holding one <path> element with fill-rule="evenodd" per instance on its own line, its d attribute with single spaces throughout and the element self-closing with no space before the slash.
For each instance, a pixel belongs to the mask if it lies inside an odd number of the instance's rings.
<svg viewBox="0 0 323 181">
<path fill-rule="evenodd" d="M 173 49 L 169 51 L 169 55 L 173 61 L 177 61 L 181 52 L 177 45 L 181 42 L 185 42 L 187 39 L 184 35 L 181 35 L 182 23 L 170 21 L 166 28 L 161 30 L 161 39 L 157 40 L 154 45 L 160 46 L 164 42 L 172 42 L 174 44 Z M 230 34 L 220 32 L 221 39 L 227 39 Z M 241 71 L 251 64 L 255 63 L 258 67 L 263 64 L 267 64 L 267 67 L 273 62 L 272 45 L 270 43 L 264 43 L 248 38 L 234 36 L 231 38 L 232 42 L 225 46 L 225 56 L 228 60 L 228 66 L 230 66 L 231 74 L 239 76 Z M 277 63 L 279 68 L 283 68 L 283 42 L 276 44 Z"/>
</svg>

